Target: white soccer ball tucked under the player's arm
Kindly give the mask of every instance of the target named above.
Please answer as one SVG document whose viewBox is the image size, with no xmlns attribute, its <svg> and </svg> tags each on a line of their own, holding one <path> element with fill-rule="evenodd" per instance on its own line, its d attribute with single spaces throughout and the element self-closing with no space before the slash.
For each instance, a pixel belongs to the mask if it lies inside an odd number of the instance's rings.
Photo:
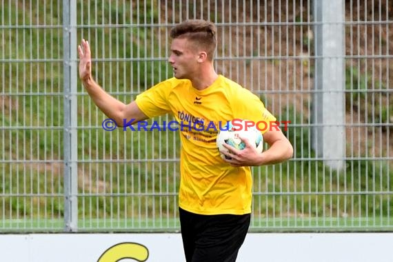
<svg viewBox="0 0 393 262">
<path fill-rule="evenodd" d="M 250 126 L 248 123 L 252 122 L 245 119 L 234 119 L 228 121 L 225 126 L 220 128 L 216 140 L 219 151 L 228 151 L 228 149 L 224 148 L 224 143 L 232 145 L 236 149 L 243 150 L 245 148 L 245 143 L 241 141 L 240 137 L 245 137 L 256 148 L 256 151 L 261 153 L 263 151 L 263 137 L 261 131 L 255 126 Z M 223 159 L 231 159 L 225 156 L 225 154 L 220 153 L 220 155 Z"/>
</svg>

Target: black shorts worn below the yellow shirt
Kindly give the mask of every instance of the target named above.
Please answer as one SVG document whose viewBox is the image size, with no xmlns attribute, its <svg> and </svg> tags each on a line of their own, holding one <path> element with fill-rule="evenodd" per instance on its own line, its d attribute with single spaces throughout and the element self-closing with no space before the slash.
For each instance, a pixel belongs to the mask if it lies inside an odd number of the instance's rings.
<svg viewBox="0 0 393 262">
<path fill-rule="evenodd" d="M 187 262 L 232 262 L 250 227 L 250 214 L 194 214 L 179 208 Z"/>
</svg>

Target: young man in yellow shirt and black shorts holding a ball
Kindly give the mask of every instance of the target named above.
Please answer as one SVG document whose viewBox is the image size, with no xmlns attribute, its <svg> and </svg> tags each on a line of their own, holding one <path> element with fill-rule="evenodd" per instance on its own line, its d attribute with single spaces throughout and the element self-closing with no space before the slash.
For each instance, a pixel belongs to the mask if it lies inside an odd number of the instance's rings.
<svg viewBox="0 0 393 262">
<path fill-rule="evenodd" d="M 213 67 L 216 28 L 203 20 L 179 23 L 171 31 L 169 63 L 174 77 L 124 104 L 106 93 L 91 73 L 88 41 L 79 52 L 79 77 L 88 94 L 117 125 L 172 114 L 181 137 L 179 217 L 186 261 L 236 261 L 250 225 L 252 176 L 250 166 L 279 163 L 292 157 L 292 145 L 281 130 L 267 128 L 268 150 L 257 153 L 247 139 L 244 150 L 228 145 L 221 159 L 216 132 L 208 123 L 248 119 L 275 121 L 263 103 L 239 84 L 217 74 Z M 125 119 L 125 120 L 124 120 Z M 198 130 L 193 130 L 195 122 Z"/>
</svg>

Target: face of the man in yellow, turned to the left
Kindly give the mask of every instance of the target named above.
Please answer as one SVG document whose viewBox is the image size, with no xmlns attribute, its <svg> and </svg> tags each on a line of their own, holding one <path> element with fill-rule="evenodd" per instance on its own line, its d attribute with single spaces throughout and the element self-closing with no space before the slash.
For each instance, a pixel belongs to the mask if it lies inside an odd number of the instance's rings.
<svg viewBox="0 0 393 262">
<path fill-rule="evenodd" d="M 177 38 L 172 40 L 169 63 L 177 79 L 192 79 L 198 68 L 199 54 L 188 39 Z"/>
</svg>

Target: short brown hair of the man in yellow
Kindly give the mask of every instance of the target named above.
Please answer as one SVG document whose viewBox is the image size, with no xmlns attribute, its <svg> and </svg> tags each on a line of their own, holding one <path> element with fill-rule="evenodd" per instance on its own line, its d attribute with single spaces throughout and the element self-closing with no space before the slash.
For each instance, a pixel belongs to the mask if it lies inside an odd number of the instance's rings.
<svg viewBox="0 0 393 262">
<path fill-rule="evenodd" d="M 185 20 L 174 26 L 170 32 L 172 39 L 186 38 L 197 46 L 202 46 L 211 61 L 217 46 L 216 26 L 202 19 Z"/>
</svg>

